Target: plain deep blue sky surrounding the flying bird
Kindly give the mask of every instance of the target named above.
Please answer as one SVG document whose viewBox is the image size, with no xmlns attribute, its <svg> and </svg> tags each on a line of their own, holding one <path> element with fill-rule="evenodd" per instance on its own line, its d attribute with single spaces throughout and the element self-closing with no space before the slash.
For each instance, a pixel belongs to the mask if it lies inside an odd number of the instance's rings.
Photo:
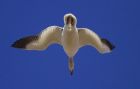
<svg viewBox="0 0 140 89">
<path fill-rule="evenodd" d="M 139 0 L 0 0 L 0 89 L 140 89 Z M 45 51 L 11 48 L 17 39 L 63 26 L 73 13 L 87 27 L 116 45 L 101 55 L 85 46 L 68 58 L 59 45 Z"/>
</svg>

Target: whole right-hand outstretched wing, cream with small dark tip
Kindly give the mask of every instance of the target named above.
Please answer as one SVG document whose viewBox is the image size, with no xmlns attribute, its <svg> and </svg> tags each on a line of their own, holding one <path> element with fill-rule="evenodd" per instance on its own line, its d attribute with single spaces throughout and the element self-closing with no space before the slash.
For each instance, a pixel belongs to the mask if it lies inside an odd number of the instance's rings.
<svg viewBox="0 0 140 89">
<path fill-rule="evenodd" d="M 78 28 L 80 47 L 91 45 L 100 53 L 111 52 L 115 48 L 107 39 L 101 39 L 95 32 L 87 28 Z"/>
</svg>

